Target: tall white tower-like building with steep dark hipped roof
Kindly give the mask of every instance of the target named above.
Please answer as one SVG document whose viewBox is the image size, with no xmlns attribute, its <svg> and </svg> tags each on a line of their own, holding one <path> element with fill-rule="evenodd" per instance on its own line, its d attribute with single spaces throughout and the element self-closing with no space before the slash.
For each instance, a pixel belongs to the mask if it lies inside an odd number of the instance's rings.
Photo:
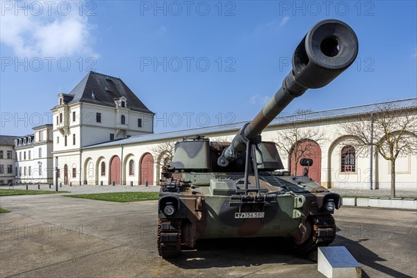
<svg viewBox="0 0 417 278">
<path fill-rule="evenodd" d="M 97 72 L 89 72 L 69 94 L 59 94 L 51 111 L 63 184 L 85 182 L 82 147 L 153 133 L 154 113 L 121 79 Z"/>
</svg>

